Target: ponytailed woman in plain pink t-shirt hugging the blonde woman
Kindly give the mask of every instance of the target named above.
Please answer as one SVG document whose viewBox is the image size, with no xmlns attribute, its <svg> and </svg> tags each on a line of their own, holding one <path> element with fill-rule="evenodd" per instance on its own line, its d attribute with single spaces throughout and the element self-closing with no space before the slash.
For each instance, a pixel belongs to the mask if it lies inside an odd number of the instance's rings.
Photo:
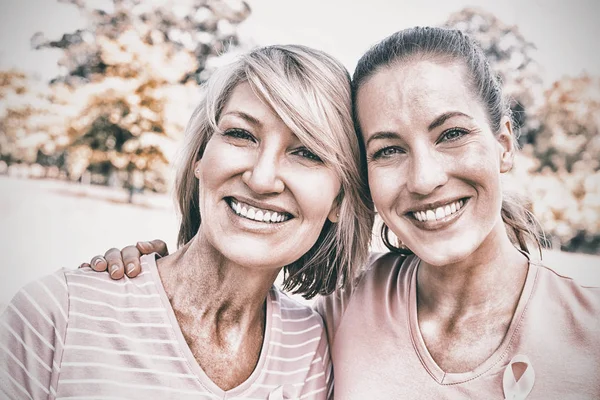
<svg viewBox="0 0 600 400">
<path fill-rule="evenodd" d="M 530 258 L 534 218 L 501 185 L 517 131 L 479 46 L 397 32 L 360 59 L 352 94 L 390 252 L 317 300 L 335 398 L 600 398 L 600 289 Z"/>
</svg>

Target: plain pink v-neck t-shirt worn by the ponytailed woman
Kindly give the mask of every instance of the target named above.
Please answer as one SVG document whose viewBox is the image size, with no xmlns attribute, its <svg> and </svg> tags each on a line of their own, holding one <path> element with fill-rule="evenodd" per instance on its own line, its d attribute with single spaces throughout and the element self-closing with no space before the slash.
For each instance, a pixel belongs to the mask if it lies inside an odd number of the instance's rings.
<svg viewBox="0 0 600 400">
<path fill-rule="evenodd" d="M 319 300 L 336 399 L 600 399 L 600 288 L 531 262 L 499 348 L 473 371 L 446 373 L 420 334 L 418 264 L 377 256 L 352 292 Z M 518 382 L 511 361 L 527 365 Z"/>
</svg>

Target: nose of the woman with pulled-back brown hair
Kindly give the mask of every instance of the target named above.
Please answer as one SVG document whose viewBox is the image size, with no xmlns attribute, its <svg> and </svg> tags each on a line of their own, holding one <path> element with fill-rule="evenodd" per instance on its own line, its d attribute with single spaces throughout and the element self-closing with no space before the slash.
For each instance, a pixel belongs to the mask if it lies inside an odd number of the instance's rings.
<svg viewBox="0 0 600 400">
<path fill-rule="evenodd" d="M 448 182 L 447 166 L 431 149 L 413 152 L 407 187 L 412 193 L 428 195 Z"/>
</svg>

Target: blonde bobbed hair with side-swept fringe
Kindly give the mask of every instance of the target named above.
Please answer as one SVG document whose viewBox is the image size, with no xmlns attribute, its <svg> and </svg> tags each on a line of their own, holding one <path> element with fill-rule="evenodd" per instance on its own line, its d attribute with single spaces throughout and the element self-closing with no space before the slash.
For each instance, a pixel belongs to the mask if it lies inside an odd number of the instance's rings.
<svg viewBox="0 0 600 400">
<path fill-rule="evenodd" d="M 350 76 L 342 64 L 318 50 L 298 45 L 258 48 L 221 67 L 206 82 L 204 97 L 186 128 L 175 183 L 181 212 L 178 245 L 191 240 L 201 223 L 193 164 L 219 131 L 220 113 L 243 82 L 340 179 L 339 222 L 327 220 L 313 247 L 285 266 L 283 285 L 306 298 L 329 294 L 351 282 L 366 261 L 374 213 L 353 127 Z"/>
</svg>

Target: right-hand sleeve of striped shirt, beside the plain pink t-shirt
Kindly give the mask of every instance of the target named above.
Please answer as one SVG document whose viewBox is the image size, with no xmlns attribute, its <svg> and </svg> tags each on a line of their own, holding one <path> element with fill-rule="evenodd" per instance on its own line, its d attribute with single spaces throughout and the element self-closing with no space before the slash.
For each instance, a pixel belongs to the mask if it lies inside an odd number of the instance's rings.
<svg viewBox="0 0 600 400">
<path fill-rule="evenodd" d="M 324 400 L 333 398 L 333 366 L 325 329 L 313 356 L 304 385 L 298 396 L 302 400 Z"/>
</svg>

